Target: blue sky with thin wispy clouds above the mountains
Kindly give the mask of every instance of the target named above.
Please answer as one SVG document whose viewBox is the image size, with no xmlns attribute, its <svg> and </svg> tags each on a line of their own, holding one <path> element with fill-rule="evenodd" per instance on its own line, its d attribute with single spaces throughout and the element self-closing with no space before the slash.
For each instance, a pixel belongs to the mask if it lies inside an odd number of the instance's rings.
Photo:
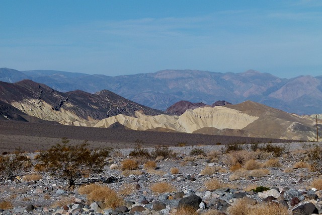
<svg viewBox="0 0 322 215">
<path fill-rule="evenodd" d="M 322 1 L 1 1 L 0 67 L 322 75 Z"/>
</svg>

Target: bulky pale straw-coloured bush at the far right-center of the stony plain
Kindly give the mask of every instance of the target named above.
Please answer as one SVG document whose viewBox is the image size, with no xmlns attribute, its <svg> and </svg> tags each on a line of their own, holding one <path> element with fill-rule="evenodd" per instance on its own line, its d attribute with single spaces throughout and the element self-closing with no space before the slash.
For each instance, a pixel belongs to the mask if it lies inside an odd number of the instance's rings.
<svg viewBox="0 0 322 215">
<path fill-rule="evenodd" d="M 224 156 L 224 162 L 228 167 L 231 167 L 237 163 L 244 165 L 246 161 L 250 159 L 255 159 L 255 155 L 253 152 L 249 152 L 246 150 L 240 151 L 230 151 L 228 154 Z"/>
</svg>

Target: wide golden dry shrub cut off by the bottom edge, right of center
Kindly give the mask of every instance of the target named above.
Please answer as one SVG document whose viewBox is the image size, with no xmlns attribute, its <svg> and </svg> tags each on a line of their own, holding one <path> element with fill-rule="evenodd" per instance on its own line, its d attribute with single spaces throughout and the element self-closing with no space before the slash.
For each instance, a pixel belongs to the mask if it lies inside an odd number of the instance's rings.
<svg viewBox="0 0 322 215">
<path fill-rule="evenodd" d="M 273 203 L 251 205 L 245 199 L 237 199 L 228 208 L 230 215 L 288 215 L 287 207 Z"/>
</svg>

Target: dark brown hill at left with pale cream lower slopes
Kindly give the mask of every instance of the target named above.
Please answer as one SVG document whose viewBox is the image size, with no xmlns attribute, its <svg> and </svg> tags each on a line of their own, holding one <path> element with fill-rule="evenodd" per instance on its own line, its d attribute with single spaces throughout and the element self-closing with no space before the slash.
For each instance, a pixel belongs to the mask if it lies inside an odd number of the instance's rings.
<svg viewBox="0 0 322 215">
<path fill-rule="evenodd" d="M 0 92 L 0 101 L 11 104 L 27 115 L 63 124 L 101 120 L 117 114 L 134 116 L 135 111 L 146 115 L 164 113 L 108 90 L 95 94 L 80 90 L 62 93 L 31 80 L 14 84 L 0 82 Z"/>
</svg>

